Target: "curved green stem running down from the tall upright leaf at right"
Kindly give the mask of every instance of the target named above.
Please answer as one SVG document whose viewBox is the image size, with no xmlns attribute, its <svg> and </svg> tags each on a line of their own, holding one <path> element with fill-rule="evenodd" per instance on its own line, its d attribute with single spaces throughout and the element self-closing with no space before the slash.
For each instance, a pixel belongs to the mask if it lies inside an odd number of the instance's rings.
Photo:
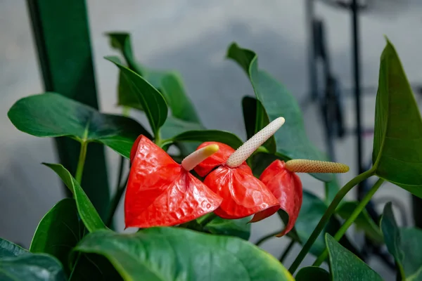
<svg viewBox="0 0 422 281">
<path fill-rule="evenodd" d="M 343 200 L 343 197 L 354 188 L 355 185 L 360 183 L 361 181 L 364 181 L 366 178 L 369 178 L 374 173 L 374 169 L 370 169 L 369 171 L 365 171 L 362 174 L 359 174 L 358 176 L 352 178 L 348 183 L 343 186 L 340 190 L 338 190 L 337 195 L 335 195 L 333 202 L 331 202 L 330 206 L 328 206 L 328 209 L 325 211 L 324 216 L 319 220 L 318 225 L 312 232 L 311 236 L 309 236 L 307 242 L 305 245 L 303 245 L 302 250 L 296 257 L 295 261 L 293 261 L 292 265 L 288 269 L 290 271 L 290 274 L 295 273 L 295 271 L 300 266 L 300 263 L 305 259 L 306 254 L 308 253 L 309 249 L 311 249 L 312 244 L 314 244 L 316 238 L 318 238 L 319 234 L 322 230 L 324 230 L 324 227 L 328 223 L 328 220 L 331 218 L 331 216 L 334 214 L 335 209 L 337 208 L 338 204 L 340 204 L 341 200 Z"/>
</svg>

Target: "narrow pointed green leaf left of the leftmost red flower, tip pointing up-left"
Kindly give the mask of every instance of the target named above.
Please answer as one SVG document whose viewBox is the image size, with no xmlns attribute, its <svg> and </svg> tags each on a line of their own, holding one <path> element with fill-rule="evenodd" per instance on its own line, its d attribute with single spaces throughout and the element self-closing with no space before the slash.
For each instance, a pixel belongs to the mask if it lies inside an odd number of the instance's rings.
<svg viewBox="0 0 422 281">
<path fill-rule="evenodd" d="M 89 201 L 84 190 L 82 190 L 79 183 L 75 180 L 75 178 L 72 177 L 69 171 L 66 170 L 65 167 L 60 164 L 43 164 L 55 171 L 56 174 L 60 176 L 63 183 L 65 183 L 65 185 L 73 193 L 79 216 L 81 217 L 85 227 L 89 230 L 89 232 L 105 229 L 106 225 L 103 223 L 103 221 L 101 221 L 100 216 L 98 215 L 91 201 Z"/>
</svg>

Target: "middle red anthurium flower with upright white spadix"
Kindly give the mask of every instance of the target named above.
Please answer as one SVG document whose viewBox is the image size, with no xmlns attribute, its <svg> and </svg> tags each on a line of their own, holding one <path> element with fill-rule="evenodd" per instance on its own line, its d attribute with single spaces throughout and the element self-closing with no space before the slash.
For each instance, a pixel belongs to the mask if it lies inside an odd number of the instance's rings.
<svg viewBox="0 0 422 281">
<path fill-rule="evenodd" d="M 200 176 L 207 175 L 205 185 L 223 198 L 220 207 L 214 211 L 217 216 L 244 218 L 269 208 L 274 214 L 279 209 L 276 197 L 264 183 L 253 176 L 245 160 L 283 124 L 283 117 L 274 120 L 236 151 L 224 143 L 215 142 L 203 143 L 198 147 L 201 149 L 207 145 L 218 144 L 220 148 L 195 168 Z"/>
</svg>

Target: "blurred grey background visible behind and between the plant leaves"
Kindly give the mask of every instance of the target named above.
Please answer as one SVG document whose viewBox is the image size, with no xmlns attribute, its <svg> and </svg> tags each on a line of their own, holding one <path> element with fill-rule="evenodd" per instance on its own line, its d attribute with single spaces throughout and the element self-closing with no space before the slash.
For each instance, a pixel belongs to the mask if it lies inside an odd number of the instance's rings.
<svg viewBox="0 0 422 281">
<path fill-rule="evenodd" d="M 117 67 L 103 59 L 116 52 L 110 48 L 105 32 L 130 32 L 136 59 L 143 65 L 181 72 L 188 95 L 208 129 L 232 131 L 245 138 L 241 98 L 253 96 L 250 82 L 232 61 L 224 59 L 232 41 L 257 52 L 260 67 L 279 79 L 298 99 L 311 141 L 325 152 L 332 148 L 335 160 L 348 164 L 351 171 L 339 177 L 345 183 L 358 174 L 357 139 L 354 133 L 354 70 L 352 16 L 350 1 L 315 0 L 309 13 L 310 0 L 155 0 L 110 1 L 87 0 L 91 49 L 98 90 L 98 103 L 103 112 L 120 113 L 117 107 Z M 339 3 L 335 3 L 339 2 Z M 362 86 L 362 162 L 371 161 L 373 117 L 378 67 L 387 35 L 402 60 L 404 70 L 415 91 L 422 84 L 422 1 L 358 1 L 359 61 Z M 341 8 L 341 7 L 346 8 Z M 366 7 L 366 8 L 365 8 Z M 309 49 L 314 33 L 309 15 L 322 20 L 324 46 L 330 73 L 338 82 L 340 112 L 345 134 L 333 137 L 328 147 L 326 127 L 319 100 L 312 101 L 309 84 Z M 315 33 L 316 32 L 316 33 Z M 316 48 L 321 49 L 321 48 Z M 316 54 L 318 55 L 318 54 Z M 326 78 L 321 64 L 315 65 L 316 81 L 324 92 Z M 58 162 L 53 140 L 36 138 L 15 129 L 8 120 L 8 108 L 19 98 L 43 92 L 37 48 L 31 20 L 24 0 L 0 0 L 0 237 L 28 247 L 42 216 L 64 197 L 56 174 L 41 162 Z M 337 92 L 336 92 L 337 93 Z M 324 93 L 319 93 L 319 97 Z M 419 96 L 417 94 L 417 99 Z M 337 100 L 337 99 L 335 99 Z M 142 116 L 134 116 L 146 124 Z M 366 132 L 366 129 L 369 131 Z M 110 183 L 117 176 L 118 157 L 106 150 Z M 115 171 L 115 172 L 114 172 Z M 301 176 L 304 188 L 324 195 L 324 186 L 310 176 Z M 348 195 L 356 198 L 354 190 Z M 407 223 L 413 224 L 411 196 L 395 185 L 385 183 L 375 196 L 393 197 L 402 204 Z M 382 210 L 383 201 L 376 204 Z M 122 218 L 122 204 L 119 207 Z M 404 223 L 401 216 L 397 216 Z M 123 230 L 121 219 L 118 228 Z M 252 226 L 250 241 L 281 228 L 279 218 L 269 218 Z M 359 241 L 362 237 L 354 235 Z M 288 240 L 279 238 L 262 245 L 279 256 Z M 300 247 L 295 246 L 286 259 L 288 266 Z M 302 266 L 313 261 L 308 256 Z M 385 280 L 395 280 L 392 271 L 378 258 L 369 261 Z"/>
</svg>

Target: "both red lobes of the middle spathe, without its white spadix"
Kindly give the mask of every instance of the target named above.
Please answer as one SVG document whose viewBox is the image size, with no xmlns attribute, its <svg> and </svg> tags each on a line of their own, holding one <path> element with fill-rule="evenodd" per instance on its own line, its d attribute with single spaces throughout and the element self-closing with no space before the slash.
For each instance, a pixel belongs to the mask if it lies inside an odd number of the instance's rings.
<svg viewBox="0 0 422 281">
<path fill-rule="evenodd" d="M 235 168 L 226 165 L 227 159 L 234 152 L 233 148 L 224 143 L 206 142 L 198 149 L 212 144 L 217 144 L 219 151 L 198 164 L 195 171 L 200 176 L 207 175 L 205 185 L 223 198 L 222 204 L 214 213 L 222 218 L 244 218 L 276 207 L 274 214 L 279 209 L 279 202 L 267 187 L 253 176 L 248 164 L 243 162 Z"/>
</svg>

